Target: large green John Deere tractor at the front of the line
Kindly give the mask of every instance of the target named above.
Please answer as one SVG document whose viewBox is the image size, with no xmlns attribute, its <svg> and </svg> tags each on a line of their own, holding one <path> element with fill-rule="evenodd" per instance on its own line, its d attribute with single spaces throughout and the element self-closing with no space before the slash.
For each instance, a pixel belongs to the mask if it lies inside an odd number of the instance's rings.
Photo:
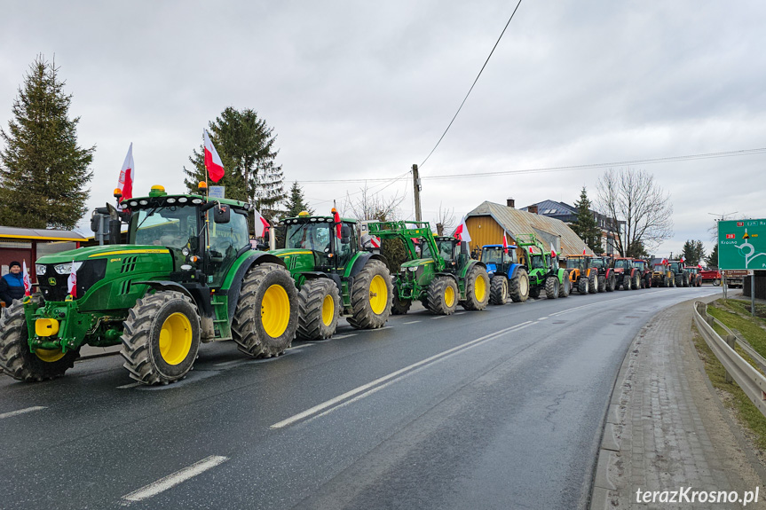
<svg viewBox="0 0 766 510">
<path fill-rule="evenodd" d="M 202 189 L 202 188 L 201 188 Z M 45 255 L 39 290 L 0 319 L 0 367 L 19 381 L 71 368 L 83 345 L 122 344 L 144 384 L 183 379 L 200 342 L 233 340 L 250 357 L 279 356 L 297 326 L 284 263 L 250 246 L 250 205 L 205 194 L 147 197 L 102 208 L 110 244 Z M 127 244 L 120 244 L 128 224 Z"/>
</svg>

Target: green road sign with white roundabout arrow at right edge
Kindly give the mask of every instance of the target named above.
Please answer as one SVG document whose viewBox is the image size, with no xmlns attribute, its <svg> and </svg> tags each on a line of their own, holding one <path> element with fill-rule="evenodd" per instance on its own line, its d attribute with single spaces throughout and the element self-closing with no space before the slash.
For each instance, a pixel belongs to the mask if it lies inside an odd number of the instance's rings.
<svg viewBox="0 0 766 510">
<path fill-rule="evenodd" d="M 766 269 L 766 220 L 718 222 L 718 266 L 725 270 Z"/>
</svg>

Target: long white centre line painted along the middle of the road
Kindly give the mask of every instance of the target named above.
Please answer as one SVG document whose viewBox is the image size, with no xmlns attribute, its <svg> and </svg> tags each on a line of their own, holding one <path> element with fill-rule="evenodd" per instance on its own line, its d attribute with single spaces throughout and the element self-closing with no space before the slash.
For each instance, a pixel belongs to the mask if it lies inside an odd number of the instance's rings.
<svg viewBox="0 0 766 510">
<path fill-rule="evenodd" d="M 422 365 L 430 365 L 430 364 L 432 364 L 432 363 L 434 363 L 436 361 L 440 361 L 441 358 L 445 358 L 445 357 L 448 357 L 448 356 L 456 353 L 457 351 L 462 351 L 462 350 L 465 350 L 465 349 L 470 349 L 472 347 L 477 346 L 479 343 L 483 343 L 485 341 L 494 340 L 495 338 L 499 338 L 501 335 L 503 335 L 505 333 L 510 333 L 511 331 L 514 331 L 514 330 L 517 330 L 517 329 L 523 329 L 523 328 L 525 328 L 525 327 L 527 327 L 527 326 L 529 326 L 531 324 L 532 324 L 532 321 L 528 320 L 528 321 L 523 322 L 521 324 L 517 324 L 516 326 L 510 326 L 510 327 L 507 327 L 505 329 L 501 329 L 500 331 L 496 331 L 494 333 L 486 334 L 485 336 L 479 337 L 476 340 L 467 341 L 467 342 L 462 343 L 461 345 L 458 345 L 458 346 L 456 346 L 456 347 L 454 347 L 452 349 L 447 349 L 447 350 L 445 350 L 443 352 L 440 352 L 438 354 L 435 354 L 435 355 L 433 355 L 431 357 L 427 357 L 427 358 L 425 358 L 425 359 L 423 359 L 421 361 L 418 361 L 417 363 L 414 363 L 412 365 L 407 365 L 404 368 L 401 368 L 401 369 L 397 370 L 396 372 L 392 372 L 392 373 L 389 373 L 388 375 L 384 375 L 383 377 L 375 379 L 375 381 L 368 382 L 367 384 L 363 384 L 362 386 L 359 386 L 357 388 L 353 388 L 353 389 L 345 392 L 343 395 L 336 396 L 335 398 L 331 398 L 331 399 L 329 399 L 329 400 L 327 400 L 327 401 L 325 401 L 325 402 L 323 402 L 321 404 L 314 405 L 311 409 L 307 409 L 304 412 L 299 412 L 299 413 L 289 417 L 286 420 L 281 420 L 281 421 L 279 421 L 277 423 L 274 423 L 271 426 L 271 428 L 284 428 L 284 427 L 287 427 L 288 425 L 292 425 L 293 423 L 296 423 L 296 421 L 304 420 L 306 418 L 312 417 L 313 415 L 320 415 L 320 413 L 321 413 L 321 415 L 324 415 L 327 412 L 332 411 L 332 410 L 329 410 L 328 408 L 330 408 L 330 407 L 333 407 L 334 409 L 340 408 L 342 405 L 337 405 L 337 404 L 340 404 L 340 403 L 344 402 L 344 400 L 346 400 L 348 398 L 351 398 L 352 396 L 358 396 L 359 394 L 362 394 L 362 393 L 364 393 L 364 395 L 359 395 L 359 398 L 361 398 L 363 396 L 372 395 L 373 393 L 375 393 L 375 391 L 377 391 L 377 389 L 379 389 L 379 388 L 375 388 L 376 386 L 382 384 L 383 382 L 390 381 L 390 380 L 395 379 L 395 378 L 399 378 L 399 375 L 401 375 L 403 373 L 410 372 L 410 371 L 414 370 L 415 368 L 418 368 L 419 366 L 422 366 Z M 391 382 L 393 382 L 393 381 L 391 381 Z M 371 388 L 375 388 L 375 391 L 368 391 Z M 354 401 L 359 400 L 359 398 L 354 399 Z M 349 403 L 346 403 L 346 404 L 349 404 Z"/>
</svg>

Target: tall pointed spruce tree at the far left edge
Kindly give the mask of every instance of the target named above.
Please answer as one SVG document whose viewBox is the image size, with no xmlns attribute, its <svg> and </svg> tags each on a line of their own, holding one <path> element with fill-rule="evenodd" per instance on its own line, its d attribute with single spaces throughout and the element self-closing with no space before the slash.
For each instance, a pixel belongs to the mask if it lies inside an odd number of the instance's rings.
<svg viewBox="0 0 766 510">
<path fill-rule="evenodd" d="M 5 226 L 72 229 L 85 214 L 85 185 L 96 146 L 77 146 L 80 117 L 69 118 L 72 94 L 59 67 L 38 55 L 13 101 L 0 153 L 0 218 Z"/>
</svg>

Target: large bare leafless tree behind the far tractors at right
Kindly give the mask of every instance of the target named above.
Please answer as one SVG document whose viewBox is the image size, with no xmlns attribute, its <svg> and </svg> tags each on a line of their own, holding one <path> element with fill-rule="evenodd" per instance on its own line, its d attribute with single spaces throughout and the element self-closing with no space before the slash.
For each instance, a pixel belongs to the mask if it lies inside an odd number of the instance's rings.
<svg viewBox="0 0 766 510">
<path fill-rule="evenodd" d="M 608 169 L 598 179 L 598 206 L 622 256 L 640 256 L 673 235 L 670 194 L 646 170 Z M 620 229 L 620 224 L 622 228 Z"/>
</svg>

